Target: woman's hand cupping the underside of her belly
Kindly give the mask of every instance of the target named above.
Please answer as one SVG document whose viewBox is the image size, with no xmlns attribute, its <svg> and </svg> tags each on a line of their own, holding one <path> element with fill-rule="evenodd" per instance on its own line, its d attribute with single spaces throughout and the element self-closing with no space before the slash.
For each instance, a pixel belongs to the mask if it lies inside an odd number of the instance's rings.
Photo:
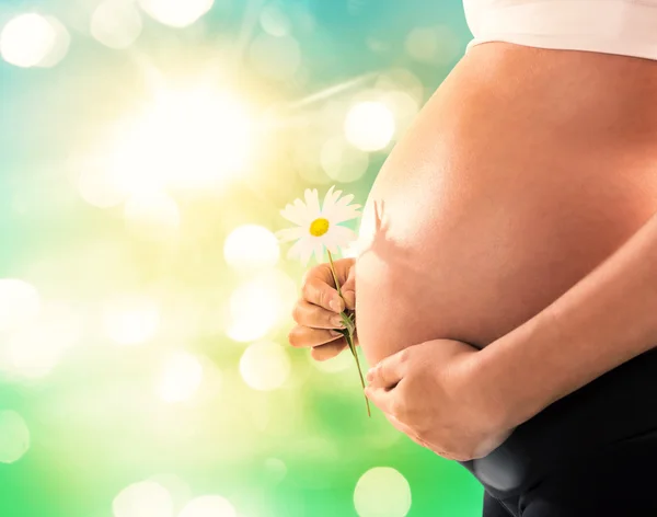
<svg viewBox="0 0 657 517">
<path fill-rule="evenodd" d="M 397 429 L 443 458 L 483 458 L 511 434 L 505 401 L 477 383 L 479 349 L 451 340 L 410 346 L 367 375 L 366 395 Z M 481 376 L 480 380 L 481 380 Z"/>
</svg>

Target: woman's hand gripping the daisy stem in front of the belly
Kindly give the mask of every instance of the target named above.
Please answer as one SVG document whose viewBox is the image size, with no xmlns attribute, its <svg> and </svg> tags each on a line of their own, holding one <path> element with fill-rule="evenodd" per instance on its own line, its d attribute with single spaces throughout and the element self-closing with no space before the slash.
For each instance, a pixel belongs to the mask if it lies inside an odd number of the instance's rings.
<svg viewBox="0 0 657 517">
<path fill-rule="evenodd" d="M 335 329 L 344 329 L 339 313 L 356 308 L 356 260 L 333 261 L 344 300 L 337 294 L 328 263 L 309 269 L 303 276 L 301 298 L 295 305 L 292 318 L 297 325 L 288 341 L 292 346 L 312 347 L 315 360 L 335 357 L 347 347 L 347 341 Z M 358 343 L 357 333 L 354 343 Z"/>
</svg>

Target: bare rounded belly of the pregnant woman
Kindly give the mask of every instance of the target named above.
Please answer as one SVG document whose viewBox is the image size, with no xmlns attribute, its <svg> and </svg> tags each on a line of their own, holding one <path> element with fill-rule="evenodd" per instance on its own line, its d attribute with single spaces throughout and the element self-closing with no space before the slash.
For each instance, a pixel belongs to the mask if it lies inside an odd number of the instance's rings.
<svg viewBox="0 0 657 517">
<path fill-rule="evenodd" d="M 656 93 L 643 59 L 503 43 L 465 56 L 364 210 L 368 363 L 436 338 L 484 347 L 629 239 L 657 211 Z"/>
</svg>

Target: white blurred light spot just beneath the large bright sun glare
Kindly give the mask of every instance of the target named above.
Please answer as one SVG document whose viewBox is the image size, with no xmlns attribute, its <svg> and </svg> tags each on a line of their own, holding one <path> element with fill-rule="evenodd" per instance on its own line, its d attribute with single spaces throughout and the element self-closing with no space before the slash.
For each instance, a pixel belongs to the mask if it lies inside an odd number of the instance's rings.
<svg viewBox="0 0 657 517">
<path fill-rule="evenodd" d="M 131 231 L 155 240 L 170 239 L 181 226 L 178 206 L 164 193 L 130 197 L 124 208 L 124 216 Z"/>
</svg>

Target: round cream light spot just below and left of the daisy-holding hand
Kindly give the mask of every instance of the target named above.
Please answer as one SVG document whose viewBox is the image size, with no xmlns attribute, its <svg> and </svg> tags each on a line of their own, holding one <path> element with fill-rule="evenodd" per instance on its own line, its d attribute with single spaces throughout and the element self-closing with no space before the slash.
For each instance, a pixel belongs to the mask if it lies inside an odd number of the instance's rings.
<svg viewBox="0 0 657 517">
<path fill-rule="evenodd" d="M 254 390 L 270 391 L 280 388 L 291 371 L 286 349 L 277 343 L 254 343 L 240 359 L 240 374 Z"/>
</svg>

